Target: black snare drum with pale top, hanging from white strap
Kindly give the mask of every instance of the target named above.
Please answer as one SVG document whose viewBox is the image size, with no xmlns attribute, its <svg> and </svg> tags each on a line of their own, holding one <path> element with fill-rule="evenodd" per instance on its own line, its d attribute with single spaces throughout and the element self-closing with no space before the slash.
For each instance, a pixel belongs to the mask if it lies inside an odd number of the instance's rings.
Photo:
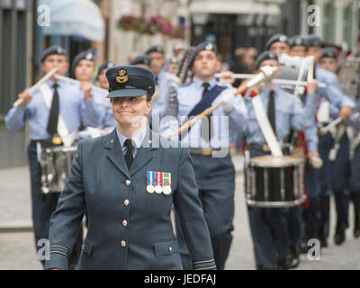
<svg viewBox="0 0 360 288">
<path fill-rule="evenodd" d="M 303 158 L 261 156 L 249 160 L 245 168 L 247 204 L 278 208 L 301 205 L 303 191 Z"/>
</svg>

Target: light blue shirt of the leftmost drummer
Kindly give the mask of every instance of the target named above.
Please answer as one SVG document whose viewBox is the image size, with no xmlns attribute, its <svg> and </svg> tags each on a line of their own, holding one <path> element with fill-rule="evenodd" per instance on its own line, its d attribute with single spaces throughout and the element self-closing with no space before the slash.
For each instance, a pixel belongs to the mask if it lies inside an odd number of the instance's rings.
<svg viewBox="0 0 360 288">
<path fill-rule="evenodd" d="M 47 84 L 54 93 L 52 87 L 54 82 L 47 80 Z M 59 115 L 64 119 L 69 133 L 79 128 L 81 121 L 85 126 L 99 125 L 102 117 L 101 108 L 94 102 L 94 97 L 85 100 L 84 91 L 81 91 L 78 85 L 59 80 L 58 99 Z M 31 102 L 25 107 L 14 107 L 7 113 L 6 128 L 11 131 L 21 130 L 26 119 L 29 120 L 31 127 L 30 139 L 49 139 L 50 135 L 47 131 L 49 108 L 39 89 L 33 92 Z"/>
</svg>

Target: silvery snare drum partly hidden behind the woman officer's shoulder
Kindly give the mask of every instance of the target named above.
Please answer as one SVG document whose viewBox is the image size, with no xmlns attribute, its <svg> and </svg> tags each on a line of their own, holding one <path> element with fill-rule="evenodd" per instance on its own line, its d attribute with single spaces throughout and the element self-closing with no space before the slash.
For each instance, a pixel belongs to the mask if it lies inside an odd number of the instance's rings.
<svg viewBox="0 0 360 288">
<path fill-rule="evenodd" d="M 43 148 L 41 151 L 41 192 L 60 193 L 72 166 L 77 146 Z"/>
</svg>

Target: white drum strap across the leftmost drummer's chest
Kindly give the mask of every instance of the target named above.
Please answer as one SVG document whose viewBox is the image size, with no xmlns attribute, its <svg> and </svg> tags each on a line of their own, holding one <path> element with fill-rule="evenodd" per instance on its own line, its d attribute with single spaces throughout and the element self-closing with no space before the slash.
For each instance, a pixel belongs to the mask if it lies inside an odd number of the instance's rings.
<svg viewBox="0 0 360 288">
<path fill-rule="evenodd" d="M 52 93 L 48 84 L 44 83 L 39 87 L 42 97 L 46 103 L 46 106 L 50 109 L 52 102 Z M 58 135 L 62 139 L 64 146 L 71 146 L 76 138 L 77 130 L 74 130 L 72 133 L 69 133 L 67 130 L 67 124 L 65 123 L 63 117 L 58 115 Z"/>
</svg>

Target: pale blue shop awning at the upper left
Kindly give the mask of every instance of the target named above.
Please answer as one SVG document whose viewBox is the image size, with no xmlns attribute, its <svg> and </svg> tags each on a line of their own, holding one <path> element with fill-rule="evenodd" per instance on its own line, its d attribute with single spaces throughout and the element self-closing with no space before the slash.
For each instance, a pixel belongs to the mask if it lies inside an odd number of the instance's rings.
<svg viewBox="0 0 360 288">
<path fill-rule="evenodd" d="M 49 26 L 42 26 L 44 35 L 103 40 L 103 18 L 99 7 L 91 0 L 41 0 L 40 4 L 47 5 L 50 12 Z"/>
</svg>

